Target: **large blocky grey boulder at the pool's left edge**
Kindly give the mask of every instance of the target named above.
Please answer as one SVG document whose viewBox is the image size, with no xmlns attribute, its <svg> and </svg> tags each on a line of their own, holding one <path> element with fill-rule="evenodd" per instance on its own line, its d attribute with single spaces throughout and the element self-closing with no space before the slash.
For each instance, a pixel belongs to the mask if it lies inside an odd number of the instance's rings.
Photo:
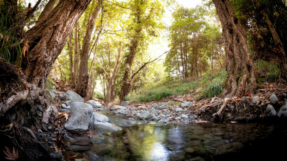
<svg viewBox="0 0 287 161">
<path fill-rule="evenodd" d="M 90 118 L 93 114 L 93 107 L 88 103 L 74 102 L 71 105 L 71 116 L 65 123 L 67 130 L 88 130 L 90 124 Z"/>
</svg>

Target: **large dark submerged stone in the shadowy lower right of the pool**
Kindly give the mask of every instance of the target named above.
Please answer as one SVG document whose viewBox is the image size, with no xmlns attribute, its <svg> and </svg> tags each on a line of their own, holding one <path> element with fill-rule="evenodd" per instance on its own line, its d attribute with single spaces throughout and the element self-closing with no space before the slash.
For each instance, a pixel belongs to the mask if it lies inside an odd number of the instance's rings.
<svg viewBox="0 0 287 161">
<path fill-rule="evenodd" d="M 230 144 L 221 145 L 219 148 L 216 149 L 215 155 L 224 155 L 228 153 L 235 153 L 239 152 L 244 147 L 244 145 L 240 142 L 233 142 Z"/>
</svg>

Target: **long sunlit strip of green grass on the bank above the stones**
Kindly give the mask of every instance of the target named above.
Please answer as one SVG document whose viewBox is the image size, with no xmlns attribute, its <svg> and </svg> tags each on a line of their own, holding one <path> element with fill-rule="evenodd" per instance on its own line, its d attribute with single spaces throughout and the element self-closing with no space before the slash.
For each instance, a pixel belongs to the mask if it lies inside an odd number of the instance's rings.
<svg viewBox="0 0 287 161">
<path fill-rule="evenodd" d="M 150 85 L 150 88 L 143 89 L 140 94 L 130 93 L 125 97 L 125 100 L 131 101 L 135 99 L 137 102 L 160 101 L 168 96 L 195 92 L 198 92 L 200 97 L 210 98 L 222 93 L 225 77 L 226 71 L 221 69 L 219 72 L 207 72 L 199 80 L 193 80 L 189 83 L 177 82 L 156 87 Z"/>
</svg>

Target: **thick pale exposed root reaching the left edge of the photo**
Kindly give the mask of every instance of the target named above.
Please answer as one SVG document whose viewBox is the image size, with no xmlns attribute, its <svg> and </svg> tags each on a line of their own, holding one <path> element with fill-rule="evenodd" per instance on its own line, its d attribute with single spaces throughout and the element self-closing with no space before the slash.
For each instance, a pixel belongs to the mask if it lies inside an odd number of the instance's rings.
<svg viewBox="0 0 287 161">
<path fill-rule="evenodd" d="M 25 90 L 25 91 L 21 91 L 18 92 L 16 95 L 13 95 L 12 100 L 11 101 L 7 101 L 7 103 L 5 103 L 2 107 L 0 107 L 0 117 L 6 113 L 9 109 L 11 109 L 14 105 L 16 105 L 16 103 L 18 103 L 19 101 L 22 101 L 24 99 L 27 98 L 29 91 Z"/>
</svg>

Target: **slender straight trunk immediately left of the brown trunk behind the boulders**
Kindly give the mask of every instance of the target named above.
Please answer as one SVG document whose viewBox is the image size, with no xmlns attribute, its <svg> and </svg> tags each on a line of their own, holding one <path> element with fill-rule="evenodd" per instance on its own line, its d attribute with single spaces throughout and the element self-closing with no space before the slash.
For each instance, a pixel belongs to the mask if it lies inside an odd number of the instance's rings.
<svg viewBox="0 0 287 161">
<path fill-rule="evenodd" d="M 79 65 L 79 46 L 78 46 L 78 29 L 79 23 L 76 23 L 75 32 L 74 32 L 74 72 L 73 72 L 73 87 L 76 85 L 77 81 L 77 71 Z M 80 40 L 81 41 L 81 40 Z"/>
</svg>

